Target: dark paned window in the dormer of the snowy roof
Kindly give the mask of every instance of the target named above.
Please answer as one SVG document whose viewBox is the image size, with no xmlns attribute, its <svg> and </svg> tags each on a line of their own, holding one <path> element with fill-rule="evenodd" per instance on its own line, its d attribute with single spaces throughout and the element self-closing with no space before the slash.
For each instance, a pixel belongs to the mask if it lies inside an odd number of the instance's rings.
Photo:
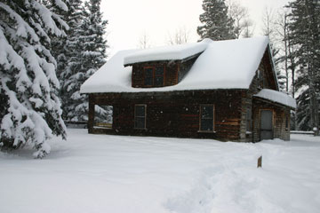
<svg viewBox="0 0 320 213">
<path fill-rule="evenodd" d="M 164 86 L 164 66 L 144 67 L 145 86 Z"/>
</svg>

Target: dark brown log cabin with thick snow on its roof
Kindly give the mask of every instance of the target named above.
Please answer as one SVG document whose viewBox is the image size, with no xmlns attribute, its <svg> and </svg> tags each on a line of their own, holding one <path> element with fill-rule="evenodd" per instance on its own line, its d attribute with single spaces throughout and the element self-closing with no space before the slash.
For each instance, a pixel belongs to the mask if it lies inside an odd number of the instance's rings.
<svg viewBox="0 0 320 213">
<path fill-rule="evenodd" d="M 268 37 L 118 51 L 81 87 L 95 134 L 290 139 L 295 100 L 279 91 Z M 97 106 L 111 107 L 101 122 Z M 107 120 L 106 120 L 107 121 Z"/>
</svg>

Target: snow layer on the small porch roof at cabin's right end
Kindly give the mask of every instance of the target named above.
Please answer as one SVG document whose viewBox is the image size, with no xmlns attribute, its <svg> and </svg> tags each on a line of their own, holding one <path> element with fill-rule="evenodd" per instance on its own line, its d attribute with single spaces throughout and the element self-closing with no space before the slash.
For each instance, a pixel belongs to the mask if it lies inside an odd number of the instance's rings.
<svg viewBox="0 0 320 213">
<path fill-rule="evenodd" d="M 259 97 L 262 99 L 268 99 L 278 104 L 282 104 L 284 106 L 290 106 L 292 108 L 296 108 L 296 100 L 293 99 L 291 96 L 285 94 L 281 91 L 273 91 L 269 89 L 263 89 L 259 91 L 254 97 Z"/>
</svg>

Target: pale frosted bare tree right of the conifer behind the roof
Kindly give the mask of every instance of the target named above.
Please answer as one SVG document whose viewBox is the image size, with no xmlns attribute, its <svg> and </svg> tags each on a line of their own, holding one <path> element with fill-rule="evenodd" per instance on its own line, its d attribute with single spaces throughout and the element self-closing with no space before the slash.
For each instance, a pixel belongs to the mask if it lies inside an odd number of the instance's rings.
<svg viewBox="0 0 320 213">
<path fill-rule="evenodd" d="M 236 0 L 228 0 L 228 16 L 235 20 L 235 34 L 236 38 L 240 36 L 252 36 L 252 20 L 249 19 L 248 9 L 242 6 Z"/>
</svg>

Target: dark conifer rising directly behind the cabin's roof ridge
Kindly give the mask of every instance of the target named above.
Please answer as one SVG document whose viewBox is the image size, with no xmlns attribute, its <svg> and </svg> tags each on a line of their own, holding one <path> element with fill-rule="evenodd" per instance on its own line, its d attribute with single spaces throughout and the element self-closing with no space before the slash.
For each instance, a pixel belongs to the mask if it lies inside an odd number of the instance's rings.
<svg viewBox="0 0 320 213">
<path fill-rule="evenodd" d="M 200 15 L 203 24 L 197 28 L 197 34 L 212 40 L 226 40 L 236 38 L 234 20 L 228 17 L 228 6 L 224 0 L 204 0 L 204 13 Z"/>
</svg>

